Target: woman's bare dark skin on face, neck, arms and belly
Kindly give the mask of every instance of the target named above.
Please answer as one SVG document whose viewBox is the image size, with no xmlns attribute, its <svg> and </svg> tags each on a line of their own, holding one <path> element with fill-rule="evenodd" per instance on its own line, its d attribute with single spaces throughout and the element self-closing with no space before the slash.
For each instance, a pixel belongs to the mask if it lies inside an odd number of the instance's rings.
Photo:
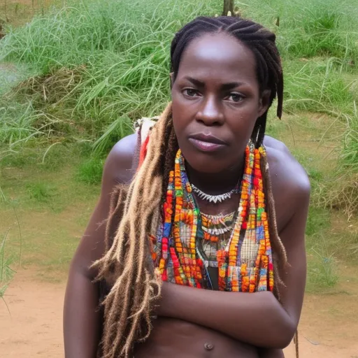
<svg viewBox="0 0 358 358">
<path fill-rule="evenodd" d="M 194 80 L 194 81 L 193 81 Z M 189 43 L 173 82 L 173 123 L 187 159 L 191 182 L 204 192 L 231 189 L 241 175 L 243 153 L 255 120 L 268 108 L 269 92 L 259 91 L 252 52 L 227 34 L 201 36 Z M 201 150 L 189 139 L 210 134 L 224 145 Z M 306 282 L 304 231 L 310 185 L 306 172 L 284 144 L 265 137 L 278 231 L 290 266 L 281 273 L 282 304 L 271 292 L 253 294 L 193 289 L 164 282 L 158 318 L 140 357 L 283 357 L 296 331 Z M 102 191 L 90 224 L 71 263 L 64 307 L 66 358 L 96 357 L 101 317 L 98 287 L 88 267 L 103 255 L 110 193 L 131 181 L 136 134 L 122 139 L 106 161 Z M 204 213 L 236 210 L 238 197 L 215 205 L 198 201 Z M 210 349 L 211 348 L 211 349 Z"/>
</svg>

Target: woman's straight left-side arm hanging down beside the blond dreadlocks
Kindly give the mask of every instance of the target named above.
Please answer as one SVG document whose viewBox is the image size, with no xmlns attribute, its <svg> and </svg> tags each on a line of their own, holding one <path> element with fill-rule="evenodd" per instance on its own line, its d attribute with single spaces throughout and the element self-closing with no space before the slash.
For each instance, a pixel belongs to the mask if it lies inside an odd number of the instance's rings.
<svg viewBox="0 0 358 358">
<path fill-rule="evenodd" d="M 90 269 L 105 250 L 106 220 L 110 194 L 119 182 L 132 177 L 131 161 L 136 136 L 123 138 L 108 155 L 103 171 L 101 197 L 71 262 L 64 301 L 64 350 L 66 358 L 94 358 L 101 339 L 99 284 Z"/>
</svg>

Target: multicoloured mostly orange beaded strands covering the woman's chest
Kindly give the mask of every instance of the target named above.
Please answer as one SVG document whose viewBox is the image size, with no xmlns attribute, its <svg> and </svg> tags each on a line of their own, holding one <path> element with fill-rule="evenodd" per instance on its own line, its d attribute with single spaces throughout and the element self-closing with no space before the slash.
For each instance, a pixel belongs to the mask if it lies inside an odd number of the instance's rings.
<svg viewBox="0 0 358 358">
<path fill-rule="evenodd" d="M 207 288 L 208 266 L 218 269 L 222 291 L 256 292 L 273 290 L 273 261 L 265 210 L 260 167 L 264 147 L 249 143 L 237 213 L 221 219 L 200 213 L 185 171 L 185 159 L 178 150 L 174 170 L 169 174 L 164 222 L 151 236 L 152 259 L 164 281 Z M 230 224 L 231 221 L 231 224 Z M 216 260 L 208 260 L 200 240 L 217 243 Z M 202 247 L 202 245 L 201 245 Z"/>
</svg>

